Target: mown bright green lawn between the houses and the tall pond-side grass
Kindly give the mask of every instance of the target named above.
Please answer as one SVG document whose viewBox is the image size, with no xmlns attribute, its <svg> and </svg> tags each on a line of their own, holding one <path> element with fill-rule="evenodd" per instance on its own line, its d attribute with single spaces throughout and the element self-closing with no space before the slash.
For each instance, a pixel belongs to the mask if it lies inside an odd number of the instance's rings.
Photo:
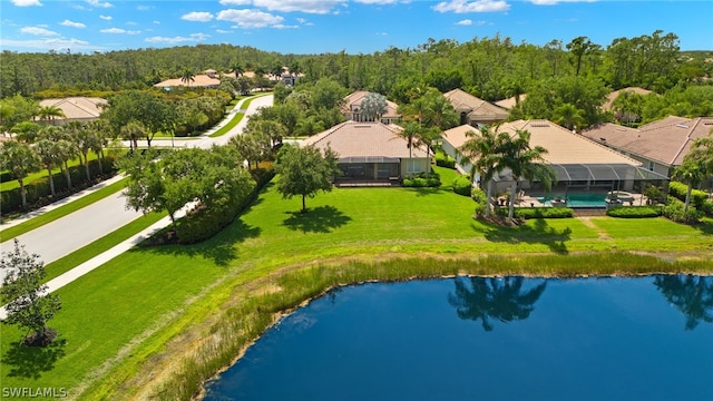
<svg viewBox="0 0 713 401">
<path fill-rule="evenodd" d="M 75 395 L 88 389 L 82 399 L 128 398 L 117 383 L 135 378 L 168 340 L 215 315 L 240 283 L 285 266 L 394 256 L 564 255 L 634 244 L 645 252 L 663 246 L 702 257 L 713 253 L 710 224 L 702 229 L 600 217 L 496 227 L 473 221 L 473 202 L 448 188 L 336 188 L 307 199 L 307 207 L 301 214 L 301 199 L 283 200 L 272 185 L 203 244 L 137 247 L 62 287 L 64 307 L 51 326 L 66 343 L 23 349 L 17 346 L 21 333 L 3 326 L 2 385 L 66 387 Z M 638 239 L 632 233 L 646 235 Z"/>
</svg>

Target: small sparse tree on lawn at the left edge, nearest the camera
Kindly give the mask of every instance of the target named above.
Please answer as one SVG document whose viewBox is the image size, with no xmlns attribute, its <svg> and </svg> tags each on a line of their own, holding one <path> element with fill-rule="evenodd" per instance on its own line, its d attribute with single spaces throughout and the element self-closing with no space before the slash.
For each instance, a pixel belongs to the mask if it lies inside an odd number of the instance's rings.
<svg viewBox="0 0 713 401">
<path fill-rule="evenodd" d="M 27 345 L 45 346 L 55 340 L 57 332 L 47 322 L 61 309 L 55 294 L 46 294 L 45 265 L 37 254 L 28 254 L 25 246 L 14 239 L 14 250 L 2 254 L 0 268 L 6 276 L 0 287 L 2 303 L 7 303 L 6 324 L 17 324 L 30 333 L 25 338 Z"/>
</svg>

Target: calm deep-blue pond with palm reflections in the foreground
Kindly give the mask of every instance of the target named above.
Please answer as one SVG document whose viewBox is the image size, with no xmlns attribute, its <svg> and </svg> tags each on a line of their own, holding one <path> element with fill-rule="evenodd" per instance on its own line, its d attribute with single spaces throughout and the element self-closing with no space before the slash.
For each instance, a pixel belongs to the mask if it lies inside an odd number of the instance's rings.
<svg viewBox="0 0 713 401">
<path fill-rule="evenodd" d="M 283 319 L 207 400 L 713 400 L 713 277 L 365 284 Z"/>
</svg>

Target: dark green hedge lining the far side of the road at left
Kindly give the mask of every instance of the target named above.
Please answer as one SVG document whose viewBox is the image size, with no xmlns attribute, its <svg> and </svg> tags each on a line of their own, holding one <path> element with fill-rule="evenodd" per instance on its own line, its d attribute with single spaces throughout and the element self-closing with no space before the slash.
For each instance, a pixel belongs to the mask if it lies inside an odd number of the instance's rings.
<svg viewBox="0 0 713 401">
<path fill-rule="evenodd" d="M 101 162 L 101 170 L 105 176 L 111 176 L 116 173 L 114 169 L 114 159 L 107 156 Z M 89 162 L 89 173 L 91 177 L 100 176 L 99 160 Z M 35 179 L 31 183 L 25 184 L 25 195 L 27 198 L 27 208 L 25 211 L 31 211 L 45 206 L 49 203 L 57 202 L 71 194 L 75 194 L 81 189 L 95 184 L 95 179 L 87 182 L 87 173 L 84 166 L 69 167 L 69 176 L 71 178 L 72 187 L 67 185 L 67 178 L 62 173 L 56 173 L 52 175 L 55 179 L 55 196 L 51 196 L 49 187 L 49 177 L 42 176 Z M 22 194 L 19 187 L 2 190 L 0 193 L 0 204 L 2 205 L 2 214 L 12 214 L 22 212 Z"/>
</svg>

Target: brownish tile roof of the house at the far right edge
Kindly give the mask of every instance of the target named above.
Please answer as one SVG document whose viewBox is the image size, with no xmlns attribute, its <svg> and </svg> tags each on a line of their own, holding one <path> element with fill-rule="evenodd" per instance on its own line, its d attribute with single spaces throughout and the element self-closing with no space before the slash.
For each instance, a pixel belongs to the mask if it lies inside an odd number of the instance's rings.
<svg viewBox="0 0 713 401">
<path fill-rule="evenodd" d="M 693 141 L 706 137 L 712 128 L 713 117 L 670 116 L 637 129 L 607 123 L 582 135 L 666 166 L 680 166 Z"/>
</svg>

